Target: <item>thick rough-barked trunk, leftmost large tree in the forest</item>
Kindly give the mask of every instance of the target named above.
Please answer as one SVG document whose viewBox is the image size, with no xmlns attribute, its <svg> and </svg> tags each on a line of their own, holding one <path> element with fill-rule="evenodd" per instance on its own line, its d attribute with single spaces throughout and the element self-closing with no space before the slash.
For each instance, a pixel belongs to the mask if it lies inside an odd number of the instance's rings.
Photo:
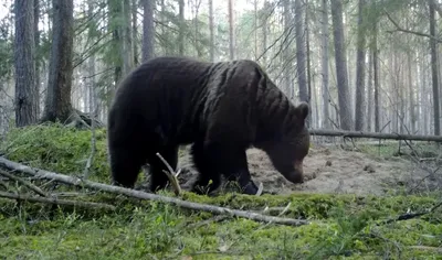
<svg viewBox="0 0 442 260">
<path fill-rule="evenodd" d="M 15 0 L 15 126 L 35 123 L 39 90 L 35 84 L 34 1 Z"/>
</svg>

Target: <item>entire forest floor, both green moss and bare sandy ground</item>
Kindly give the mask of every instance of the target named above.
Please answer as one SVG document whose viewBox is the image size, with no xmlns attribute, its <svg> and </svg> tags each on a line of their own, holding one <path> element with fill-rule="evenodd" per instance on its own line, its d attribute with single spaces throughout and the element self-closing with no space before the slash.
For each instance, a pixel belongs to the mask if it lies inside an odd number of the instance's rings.
<svg viewBox="0 0 442 260">
<path fill-rule="evenodd" d="M 0 154 L 81 176 L 91 154 L 91 136 L 60 124 L 12 129 L 0 140 Z M 266 193 L 250 196 L 227 188 L 214 196 L 180 195 L 187 202 L 309 221 L 303 226 L 27 178 L 51 196 L 116 209 L 0 196 L 0 259 L 442 259 L 439 155 L 440 150 L 428 143 L 399 151 L 398 142 L 358 141 L 348 147 L 314 141 L 304 162 L 306 182 L 292 184 L 264 152 L 250 149 L 252 177 Z M 88 180 L 108 184 L 108 166 L 106 131 L 99 129 Z M 197 176 L 187 149 L 180 151 L 179 166 L 186 189 Z M 146 177 L 139 175 L 137 188 L 146 185 Z M 4 176 L 0 192 L 36 196 Z M 159 194 L 176 197 L 170 191 Z"/>
</svg>

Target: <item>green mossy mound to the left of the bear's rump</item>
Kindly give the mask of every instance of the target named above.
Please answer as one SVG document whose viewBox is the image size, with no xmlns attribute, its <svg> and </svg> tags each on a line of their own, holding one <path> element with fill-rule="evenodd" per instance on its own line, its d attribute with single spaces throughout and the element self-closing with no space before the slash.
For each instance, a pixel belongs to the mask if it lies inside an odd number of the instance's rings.
<svg viewBox="0 0 442 260">
<path fill-rule="evenodd" d="M 91 154 L 91 131 L 59 123 L 12 129 L 0 144 L 9 160 L 63 174 L 82 174 Z M 96 130 L 96 153 L 91 180 L 107 180 L 106 132 Z"/>
</svg>

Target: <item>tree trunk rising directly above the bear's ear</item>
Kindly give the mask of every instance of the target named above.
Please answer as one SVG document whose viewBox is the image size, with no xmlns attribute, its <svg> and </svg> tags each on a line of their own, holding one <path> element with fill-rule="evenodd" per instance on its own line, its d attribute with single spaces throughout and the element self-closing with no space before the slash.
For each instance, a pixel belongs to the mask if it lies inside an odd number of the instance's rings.
<svg viewBox="0 0 442 260">
<path fill-rule="evenodd" d="M 295 0 L 295 33 L 296 33 L 296 68 L 299 85 L 299 100 L 309 102 L 307 79 L 305 76 L 305 41 L 303 31 L 303 3 Z"/>
</svg>

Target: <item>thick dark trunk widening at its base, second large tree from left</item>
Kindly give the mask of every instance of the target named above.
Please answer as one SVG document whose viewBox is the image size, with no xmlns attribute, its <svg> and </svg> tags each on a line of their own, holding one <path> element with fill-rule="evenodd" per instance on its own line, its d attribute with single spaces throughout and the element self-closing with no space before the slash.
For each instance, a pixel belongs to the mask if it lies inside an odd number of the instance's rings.
<svg viewBox="0 0 442 260">
<path fill-rule="evenodd" d="M 73 0 L 53 0 L 53 33 L 42 121 L 66 122 L 72 113 Z"/>
</svg>

